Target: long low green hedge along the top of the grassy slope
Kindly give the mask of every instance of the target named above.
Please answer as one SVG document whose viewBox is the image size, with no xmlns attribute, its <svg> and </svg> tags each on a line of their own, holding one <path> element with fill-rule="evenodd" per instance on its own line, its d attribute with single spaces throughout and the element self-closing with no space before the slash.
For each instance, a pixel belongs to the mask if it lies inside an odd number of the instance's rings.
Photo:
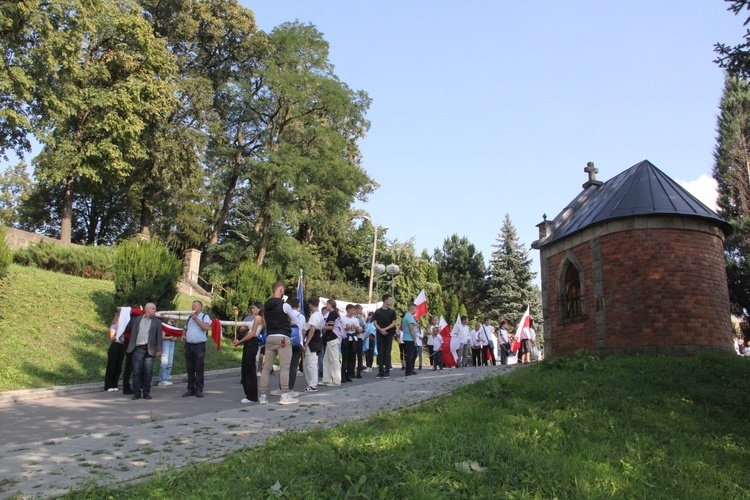
<svg viewBox="0 0 750 500">
<path fill-rule="evenodd" d="M 38 267 L 47 271 L 111 280 L 112 272 L 111 247 L 67 246 L 46 241 L 16 250 L 13 261 L 22 266 Z"/>
</svg>

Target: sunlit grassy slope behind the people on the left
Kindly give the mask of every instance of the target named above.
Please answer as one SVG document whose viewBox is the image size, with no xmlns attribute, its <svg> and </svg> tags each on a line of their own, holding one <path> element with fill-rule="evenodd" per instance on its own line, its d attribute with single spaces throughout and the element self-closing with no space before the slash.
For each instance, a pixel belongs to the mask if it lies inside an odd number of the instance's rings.
<svg viewBox="0 0 750 500">
<path fill-rule="evenodd" d="M 0 391 L 103 382 L 113 297 L 111 281 L 11 265 L 0 281 Z M 177 307 L 189 310 L 193 299 L 180 295 Z M 183 352 L 178 342 L 174 374 L 185 372 Z M 209 341 L 206 369 L 241 359 L 228 338 L 219 353 Z"/>
</svg>

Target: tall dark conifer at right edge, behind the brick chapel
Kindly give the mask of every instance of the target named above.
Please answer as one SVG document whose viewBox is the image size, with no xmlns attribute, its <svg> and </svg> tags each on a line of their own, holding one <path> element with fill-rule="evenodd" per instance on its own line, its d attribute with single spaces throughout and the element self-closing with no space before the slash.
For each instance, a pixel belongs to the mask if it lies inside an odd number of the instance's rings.
<svg viewBox="0 0 750 500">
<path fill-rule="evenodd" d="M 750 85 L 727 76 L 721 98 L 713 175 L 719 215 L 733 232 L 724 241 L 732 312 L 750 313 Z"/>
</svg>

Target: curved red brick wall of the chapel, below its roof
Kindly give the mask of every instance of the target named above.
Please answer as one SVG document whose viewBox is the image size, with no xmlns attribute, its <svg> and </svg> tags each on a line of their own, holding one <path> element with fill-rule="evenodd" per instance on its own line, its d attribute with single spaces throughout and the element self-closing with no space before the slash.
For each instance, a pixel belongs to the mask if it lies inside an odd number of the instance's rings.
<svg viewBox="0 0 750 500">
<path fill-rule="evenodd" d="M 546 355 L 731 352 L 723 240 L 700 224 L 631 224 L 592 231 L 588 241 L 557 253 L 543 249 Z M 583 281 L 585 314 L 572 320 L 560 315 L 566 258 L 576 259 Z"/>
</svg>

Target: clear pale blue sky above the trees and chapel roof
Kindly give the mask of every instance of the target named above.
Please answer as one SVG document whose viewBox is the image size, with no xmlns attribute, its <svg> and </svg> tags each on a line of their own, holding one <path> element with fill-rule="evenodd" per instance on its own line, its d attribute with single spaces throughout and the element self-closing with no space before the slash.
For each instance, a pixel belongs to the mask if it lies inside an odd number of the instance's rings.
<svg viewBox="0 0 750 500">
<path fill-rule="evenodd" d="M 648 159 L 714 205 L 713 45 L 744 32 L 720 0 L 240 1 L 263 31 L 317 26 L 373 99 L 360 208 L 418 252 L 457 233 L 489 260 L 506 213 L 530 248 L 588 161 L 606 181 Z"/>
</svg>

